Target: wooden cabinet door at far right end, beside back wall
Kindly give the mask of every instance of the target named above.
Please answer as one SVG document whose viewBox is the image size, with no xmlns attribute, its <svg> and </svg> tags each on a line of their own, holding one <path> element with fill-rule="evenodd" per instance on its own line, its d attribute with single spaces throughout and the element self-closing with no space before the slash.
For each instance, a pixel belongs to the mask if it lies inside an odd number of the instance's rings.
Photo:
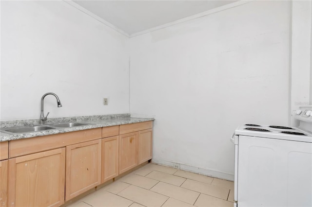
<svg viewBox="0 0 312 207">
<path fill-rule="evenodd" d="M 138 164 L 152 159 L 153 129 L 138 132 Z"/>
</svg>

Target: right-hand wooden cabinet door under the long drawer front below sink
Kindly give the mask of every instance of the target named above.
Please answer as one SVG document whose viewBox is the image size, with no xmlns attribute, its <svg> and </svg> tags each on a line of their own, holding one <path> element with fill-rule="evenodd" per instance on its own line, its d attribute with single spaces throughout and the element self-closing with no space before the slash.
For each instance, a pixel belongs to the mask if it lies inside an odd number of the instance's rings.
<svg viewBox="0 0 312 207">
<path fill-rule="evenodd" d="M 101 184 L 101 139 L 66 146 L 68 201 Z"/>
</svg>

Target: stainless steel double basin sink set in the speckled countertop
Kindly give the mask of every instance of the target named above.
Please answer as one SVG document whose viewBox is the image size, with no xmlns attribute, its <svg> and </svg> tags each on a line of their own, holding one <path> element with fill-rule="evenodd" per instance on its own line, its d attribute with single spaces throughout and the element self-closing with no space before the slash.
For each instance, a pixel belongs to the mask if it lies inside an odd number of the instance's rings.
<svg viewBox="0 0 312 207">
<path fill-rule="evenodd" d="M 1 129 L 1 132 L 8 134 L 19 134 L 19 133 L 29 133 L 29 132 L 39 132 L 50 129 L 58 128 L 70 128 L 75 126 L 87 126 L 92 125 L 92 123 L 78 123 L 78 122 L 66 122 L 66 123 L 54 123 L 47 125 L 37 125 L 37 126 L 20 126 L 20 127 L 10 127 L 7 129 Z"/>
</svg>

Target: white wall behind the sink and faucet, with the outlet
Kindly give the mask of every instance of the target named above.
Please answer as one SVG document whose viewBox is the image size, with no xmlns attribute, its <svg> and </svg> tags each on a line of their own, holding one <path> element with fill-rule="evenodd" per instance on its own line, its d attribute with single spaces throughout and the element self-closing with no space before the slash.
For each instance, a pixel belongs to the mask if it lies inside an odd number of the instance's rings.
<svg viewBox="0 0 312 207">
<path fill-rule="evenodd" d="M 129 38 L 64 1 L 1 0 L 1 121 L 129 113 Z M 109 105 L 102 104 L 109 98 Z"/>
</svg>

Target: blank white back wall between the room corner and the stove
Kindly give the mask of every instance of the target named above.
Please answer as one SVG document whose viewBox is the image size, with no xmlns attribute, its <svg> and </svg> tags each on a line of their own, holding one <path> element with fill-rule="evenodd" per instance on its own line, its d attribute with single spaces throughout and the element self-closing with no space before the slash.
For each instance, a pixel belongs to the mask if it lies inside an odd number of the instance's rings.
<svg viewBox="0 0 312 207">
<path fill-rule="evenodd" d="M 289 123 L 290 2 L 253 1 L 131 38 L 130 108 L 153 161 L 233 179 L 234 129 Z"/>
</svg>

